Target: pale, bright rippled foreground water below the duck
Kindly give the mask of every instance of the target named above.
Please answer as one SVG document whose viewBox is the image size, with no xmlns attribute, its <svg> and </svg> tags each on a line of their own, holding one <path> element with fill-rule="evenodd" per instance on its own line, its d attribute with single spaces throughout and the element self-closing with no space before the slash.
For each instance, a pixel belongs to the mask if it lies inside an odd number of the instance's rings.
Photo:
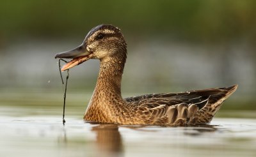
<svg viewBox="0 0 256 157">
<path fill-rule="evenodd" d="M 88 124 L 56 116 L 1 116 L 0 156 L 255 156 L 254 119 L 196 127 Z"/>
</svg>

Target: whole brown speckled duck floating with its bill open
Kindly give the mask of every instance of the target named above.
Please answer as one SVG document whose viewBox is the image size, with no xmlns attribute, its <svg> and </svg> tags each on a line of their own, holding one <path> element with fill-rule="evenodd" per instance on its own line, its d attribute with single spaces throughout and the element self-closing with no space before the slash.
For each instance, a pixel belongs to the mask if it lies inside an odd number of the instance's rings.
<svg viewBox="0 0 256 157">
<path fill-rule="evenodd" d="M 93 27 L 81 45 L 60 52 L 55 58 L 70 59 L 61 71 L 89 59 L 99 59 L 97 83 L 84 112 L 86 123 L 168 126 L 208 124 L 223 101 L 237 89 L 235 84 L 230 87 L 122 98 L 121 81 L 127 59 L 127 43 L 121 30 L 111 24 Z"/>
</svg>

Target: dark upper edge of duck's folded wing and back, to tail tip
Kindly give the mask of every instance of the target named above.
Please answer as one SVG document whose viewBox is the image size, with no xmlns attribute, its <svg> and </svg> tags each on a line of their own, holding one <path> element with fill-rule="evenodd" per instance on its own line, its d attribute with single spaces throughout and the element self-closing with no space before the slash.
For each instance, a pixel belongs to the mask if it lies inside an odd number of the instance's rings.
<svg viewBox="0 0 256 157">
<path fill-rule="evenodd" d="M 231 87 L 208 88 L 195 91 L 186 91 L 181 93 L 161 93 L 161 94 L 145 94 L 141 96 L 133 96 L 124 100 L 137 105 L 148 105 L 148 108 L 154 108 L 159 105 L 177 105 L 179 103 L 195 104 L 199 109 L 203 108 L 207 103 L 215 103 L 221 98 L 232 94 L 237 85 Z"/>
</svg>

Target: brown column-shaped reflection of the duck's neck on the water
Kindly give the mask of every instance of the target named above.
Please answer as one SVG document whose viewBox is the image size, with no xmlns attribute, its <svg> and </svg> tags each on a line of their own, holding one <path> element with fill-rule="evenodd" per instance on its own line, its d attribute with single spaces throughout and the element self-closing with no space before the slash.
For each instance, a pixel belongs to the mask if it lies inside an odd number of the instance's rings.
<svg viewBox="0 0 256 157">
<path fill-rule="evenodd" d="M 100 156 L 123 156 L 122 137 L 118 125 L 100 124 L 94 126 L 92 131 L 97 135 L 96 142 Z"/>
</svg>

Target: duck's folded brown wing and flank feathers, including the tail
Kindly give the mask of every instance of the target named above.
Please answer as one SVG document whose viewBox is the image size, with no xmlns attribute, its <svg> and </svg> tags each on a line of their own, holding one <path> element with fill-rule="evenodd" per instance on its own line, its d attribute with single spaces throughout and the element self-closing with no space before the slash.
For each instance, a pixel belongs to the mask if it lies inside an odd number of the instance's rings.
<svg viewBox="0 0 256 157">
<path fill-rule="evenodd" d="M 209 123 L 221 103 L 236 88 L 231 86 L 182 93 L 147 94 L 126 98 L 125 101 L 134 106 L 137 116 L 148 124 L 180 124 L 188 121 Z M 193 119 L 189 120 L 190 117 Z"/>
</svg>

